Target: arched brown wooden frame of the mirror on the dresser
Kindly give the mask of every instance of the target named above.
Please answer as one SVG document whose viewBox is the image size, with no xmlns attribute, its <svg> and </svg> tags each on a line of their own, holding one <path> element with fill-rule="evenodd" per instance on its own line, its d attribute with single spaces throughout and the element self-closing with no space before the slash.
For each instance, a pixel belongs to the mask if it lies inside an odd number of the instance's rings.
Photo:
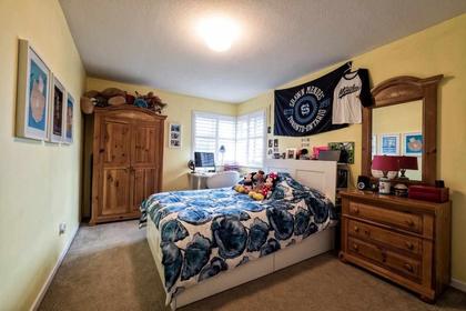
<svg viewBox="0 0 466 311">
<path fill-rule="evenodd" d="M 372 110 L 381 107 L 423 101 L 423 164 L 422 181 L 409 183 L 434 184 L 437 177 L 437 89 L 443 74 L 421 79 L 395 77 L 372 89 L 372 107 L 363 108 L 363 138 L 361 173 L 372 178 Z"/>
</svg>

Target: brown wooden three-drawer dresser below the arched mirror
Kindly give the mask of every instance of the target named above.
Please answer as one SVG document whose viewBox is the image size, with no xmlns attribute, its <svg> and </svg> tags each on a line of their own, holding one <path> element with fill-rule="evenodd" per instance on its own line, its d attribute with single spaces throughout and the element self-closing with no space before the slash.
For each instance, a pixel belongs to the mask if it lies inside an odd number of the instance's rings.
<svg viewBox="0 0 466 311">
<path fill-rule="evenodd" d="M 340 258 L 434 302 L 450 280 L 450 202 L 342 195 Z"/>
</svg>

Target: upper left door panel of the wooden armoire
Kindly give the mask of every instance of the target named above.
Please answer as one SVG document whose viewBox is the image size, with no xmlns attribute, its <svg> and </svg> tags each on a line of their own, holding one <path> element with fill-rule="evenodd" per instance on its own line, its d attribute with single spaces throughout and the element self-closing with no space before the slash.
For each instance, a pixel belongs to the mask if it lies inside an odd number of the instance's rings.
<svg viewBox="0 0 466 311">
<path fill-rule="evenodd" d="M 104 165 L 130 164 L 131 126 L 128 122 L 105 119 L 102 123 L 103 139 L 100 152 L 103 153 Z"/>
</svg>

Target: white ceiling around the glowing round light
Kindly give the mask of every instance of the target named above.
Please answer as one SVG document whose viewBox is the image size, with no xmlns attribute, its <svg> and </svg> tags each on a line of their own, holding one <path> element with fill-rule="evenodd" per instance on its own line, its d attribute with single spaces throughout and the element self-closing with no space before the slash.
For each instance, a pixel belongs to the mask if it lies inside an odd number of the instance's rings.
<svg viewBox="0 0 466 311">
<path fill-rule="evenodd" d="M 90 76 L 229 102 L 466 12 L 465 0 L 60 2 Z M 212 13 L 242 28 L 227 52 L 195 33 Z"/>
</svg>

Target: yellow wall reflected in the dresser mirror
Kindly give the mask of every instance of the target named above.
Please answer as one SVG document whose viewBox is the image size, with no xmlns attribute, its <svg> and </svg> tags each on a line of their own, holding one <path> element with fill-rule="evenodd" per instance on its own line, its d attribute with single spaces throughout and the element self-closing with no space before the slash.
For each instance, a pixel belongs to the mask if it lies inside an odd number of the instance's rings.
<svg viewBox="0 0 466 311">
<path fill-rule="evenodd" d="M 374 109 L 372 113 L 372 134 L 377 136 L 377 149 L 373 154 L 379 153 L 381 134 L 399 134 L 399 154 L 403 154 L 404 133 L 423 131 L 423 101 L 416 100 L 404 104 L 386 106 Z M 418 170 L 407 170 L 406 177 L 411 180 L 422 180 L 422 157 L 417 157 Z"/>
</svg>

